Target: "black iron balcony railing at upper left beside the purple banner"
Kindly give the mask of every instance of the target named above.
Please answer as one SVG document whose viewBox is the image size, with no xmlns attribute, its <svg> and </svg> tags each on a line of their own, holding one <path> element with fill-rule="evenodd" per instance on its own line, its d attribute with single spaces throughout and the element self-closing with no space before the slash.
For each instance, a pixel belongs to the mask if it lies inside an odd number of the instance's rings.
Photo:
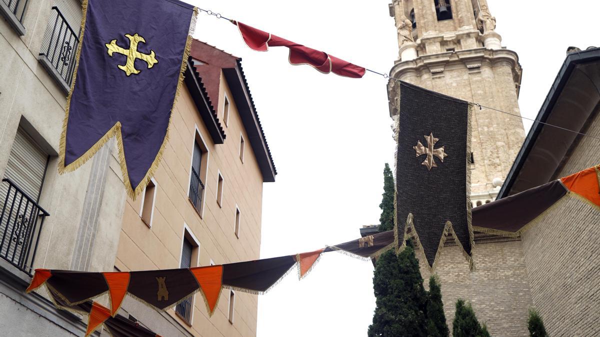
<svg viewBox="0 0 600 337">
<path fill-rule="evenodd" d="M 78 46 L 79 32 L 71 28 L 58 7 L 52 7 L 40 56 L 45 58 L 44 66 L 69 87 L 73 81 L 75 54 Z"/>
</svg>

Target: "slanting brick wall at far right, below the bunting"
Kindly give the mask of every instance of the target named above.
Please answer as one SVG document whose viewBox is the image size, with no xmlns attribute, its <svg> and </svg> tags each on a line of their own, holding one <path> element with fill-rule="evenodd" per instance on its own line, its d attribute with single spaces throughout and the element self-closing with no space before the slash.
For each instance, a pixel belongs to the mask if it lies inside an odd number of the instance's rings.
<svg viewBox="0 0 600 337">
<path fill-rule="evenodd" d="M 559 202 L 523 234 L 533 303 L 551 336 L 599 336 L 599 209 Z"/>
</svg>

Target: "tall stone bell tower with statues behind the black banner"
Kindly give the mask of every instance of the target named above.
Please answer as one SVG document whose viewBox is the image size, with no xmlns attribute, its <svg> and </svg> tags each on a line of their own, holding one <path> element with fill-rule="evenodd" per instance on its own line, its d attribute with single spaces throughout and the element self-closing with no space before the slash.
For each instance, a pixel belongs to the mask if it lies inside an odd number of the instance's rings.
<svg viewBox="0 0 600 337">
<path fill-rule="evenodd" d="M 520 116 L 521 65 L 500 44 L 487 0 L 394 0 L 398 59 L 389 76 L 461 100 Z M 399 86 L 388 83 L 389 113 L 398 113 Z M 473 206 L 496 198 L 523 144 L 520 118 L 476 109 L 472 120 Z"/>
</svg>

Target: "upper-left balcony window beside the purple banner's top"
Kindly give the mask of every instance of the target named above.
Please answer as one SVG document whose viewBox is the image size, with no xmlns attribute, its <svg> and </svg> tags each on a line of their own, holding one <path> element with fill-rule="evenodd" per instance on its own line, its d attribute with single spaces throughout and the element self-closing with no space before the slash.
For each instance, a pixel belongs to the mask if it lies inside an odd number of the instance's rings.
<svg viewBox="0 0 600 337">
<path fill-rule="evenodd" d="M 80 10 L 78 13 L 68 8 L 62 12 L 59 7 L 52 7 L 40 49 L 38 59 L 64 92 L 69 92 L 73 83 L 80 20 Z"/>
</svg>

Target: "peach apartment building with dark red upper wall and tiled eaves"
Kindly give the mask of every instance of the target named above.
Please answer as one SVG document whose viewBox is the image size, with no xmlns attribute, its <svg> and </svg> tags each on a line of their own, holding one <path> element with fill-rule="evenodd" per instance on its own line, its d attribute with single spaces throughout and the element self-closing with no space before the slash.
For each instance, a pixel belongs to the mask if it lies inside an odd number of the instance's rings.
<svg viewBox="0 0 600 337">
<path fill-rule="evenodd" d="M 143 197 L 125 204 L 117 270 L 260 257 L 262 186 L 274 181 L 275 167 L 239 61 L 193 41 L 186 89 L 173 111 L 163 161 Z M 223 290 L 210 318 L 201 294 L 168 315 L 149 314 L 134 300 L 123 308 L 166 336 L 256 335 L 257 296 L 252 294 Z"/>
</svg>

